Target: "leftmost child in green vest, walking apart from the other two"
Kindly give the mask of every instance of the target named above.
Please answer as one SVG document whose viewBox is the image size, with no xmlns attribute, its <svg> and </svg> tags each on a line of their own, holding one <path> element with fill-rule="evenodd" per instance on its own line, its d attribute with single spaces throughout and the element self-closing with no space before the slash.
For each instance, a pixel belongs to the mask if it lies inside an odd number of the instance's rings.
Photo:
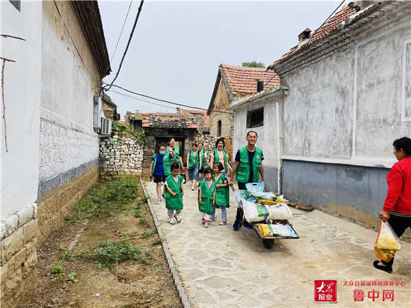
<svg viewBox="0 0 411 308">
<path fill-rule="evenodd" d="M 166 208 L 171 224 L 182 221 L 179 218 L 179 214 L 183 209 L 184 182 L 184 177 L 179 175 L 179 164 L 173 162 L 171 164 L 171 175 L 166 177 L 164 182 L 164 187 L 166 188 Z"/>
</svg>

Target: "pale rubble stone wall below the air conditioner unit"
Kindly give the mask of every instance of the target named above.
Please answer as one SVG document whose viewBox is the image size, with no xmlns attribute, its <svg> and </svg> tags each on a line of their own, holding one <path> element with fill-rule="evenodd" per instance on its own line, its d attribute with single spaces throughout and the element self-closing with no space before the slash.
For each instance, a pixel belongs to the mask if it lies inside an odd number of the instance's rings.
<svg viewBox="0 0 411 308">
<path fill-rule="evenodd" d="M 142 175 L 144 145 L 136 137 L 105 138 L 100 141 L 100 175 Z"/>
</svg>

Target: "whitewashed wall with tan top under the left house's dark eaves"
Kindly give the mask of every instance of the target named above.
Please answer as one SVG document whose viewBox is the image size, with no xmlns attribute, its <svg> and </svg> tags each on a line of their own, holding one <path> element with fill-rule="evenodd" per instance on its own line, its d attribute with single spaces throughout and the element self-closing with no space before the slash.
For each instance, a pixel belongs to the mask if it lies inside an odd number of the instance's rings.
<svg viewBox="0 0 411 308">
<path fill-rule="evenodd" d="M 62 18 L 52 1 L 43 2 L 40 192 L 69 181 L 90 162 L 98 166 L 99 157 L 92 118 L 99 74 L 69 1 L 58 1 L 58 8 Z"/>
</svg>

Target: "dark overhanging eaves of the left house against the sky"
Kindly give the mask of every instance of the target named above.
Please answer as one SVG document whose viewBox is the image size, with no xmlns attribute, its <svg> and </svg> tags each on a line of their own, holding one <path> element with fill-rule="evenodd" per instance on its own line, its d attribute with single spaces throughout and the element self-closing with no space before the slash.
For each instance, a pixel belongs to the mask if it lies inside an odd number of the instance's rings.
<svg viewBox="0 0 411 308">
<path fill-rule="evenodd" d="M 97 1 L 70 1 L 101 79 L 111 72 Z"/>
</svg>

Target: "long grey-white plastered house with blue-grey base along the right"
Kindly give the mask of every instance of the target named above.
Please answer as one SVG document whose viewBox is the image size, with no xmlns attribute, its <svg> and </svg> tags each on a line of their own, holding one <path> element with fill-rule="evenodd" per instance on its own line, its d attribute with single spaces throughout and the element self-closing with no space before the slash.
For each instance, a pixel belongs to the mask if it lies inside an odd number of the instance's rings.
<svg viewBox="0 0 411 308">
<path fill-rule="evenodd" d="M 393 140 L 411 136 L 411 2 L 356 1 L 269 69 L 281 86 L 233 103 L 234 150 L 263 114 L 270 190 L 378 225 Z"/>
</svg>

